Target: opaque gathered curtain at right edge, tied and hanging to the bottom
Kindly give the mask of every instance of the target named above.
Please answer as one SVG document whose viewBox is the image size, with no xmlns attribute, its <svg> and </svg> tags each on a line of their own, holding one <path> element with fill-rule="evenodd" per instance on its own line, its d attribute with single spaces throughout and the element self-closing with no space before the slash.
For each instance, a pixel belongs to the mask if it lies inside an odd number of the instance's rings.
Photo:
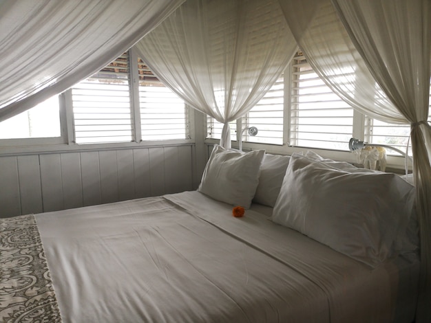
<svg viewBox="0 0 431 323">
<path fill-rule="evenodd" d="M 375 80 L 410 122 L 421 235 L 417 322 L 431 322 L 431 1 L 333 0 Z"/>
</svg>

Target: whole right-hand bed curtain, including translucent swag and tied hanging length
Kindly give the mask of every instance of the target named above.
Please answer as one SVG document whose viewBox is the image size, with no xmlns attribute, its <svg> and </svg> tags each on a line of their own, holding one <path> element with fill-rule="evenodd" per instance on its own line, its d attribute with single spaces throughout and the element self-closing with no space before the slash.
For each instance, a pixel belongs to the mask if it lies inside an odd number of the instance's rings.
<svg viewBox="0 0 431 323">
<path fill-rule="evenodd" d="M 379 120 L 411 125 L 421 236 L 417 322 L 431 322 L 431 1 L 280 4 L 299 47 L 341 98 Z"/>
</svg>

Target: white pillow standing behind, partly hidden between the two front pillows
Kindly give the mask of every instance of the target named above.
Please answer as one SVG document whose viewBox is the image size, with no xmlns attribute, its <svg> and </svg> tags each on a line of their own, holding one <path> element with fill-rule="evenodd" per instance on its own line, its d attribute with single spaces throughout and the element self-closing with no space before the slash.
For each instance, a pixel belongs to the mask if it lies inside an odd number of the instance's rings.
<svg viewBox="0 0 431 323">
<path fill-rule="evenodd" d="M 289 159 L 291 159 L 289 156 L 265 154 L 253 202 L 274 207 Z"/>
</svg>

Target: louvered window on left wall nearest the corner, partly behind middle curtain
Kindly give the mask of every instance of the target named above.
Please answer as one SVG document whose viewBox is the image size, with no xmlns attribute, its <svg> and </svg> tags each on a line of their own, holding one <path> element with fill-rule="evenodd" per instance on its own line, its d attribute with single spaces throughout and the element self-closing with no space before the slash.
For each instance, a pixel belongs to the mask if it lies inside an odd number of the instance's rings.
<svg viewBox="0 0 431 323">
<path fill-rule="evenodd" d="M 184 100 L 165 87 L 140 58 L 138 73 L 142 140 L 188 139 Z"/>
</svg>

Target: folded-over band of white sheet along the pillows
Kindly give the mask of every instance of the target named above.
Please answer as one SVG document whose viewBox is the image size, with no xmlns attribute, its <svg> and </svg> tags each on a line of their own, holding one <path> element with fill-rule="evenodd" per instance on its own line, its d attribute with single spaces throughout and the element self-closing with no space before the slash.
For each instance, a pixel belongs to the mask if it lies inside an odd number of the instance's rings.
<svg viewBox="0 0 431 323">
<path fill-rule="evenodd" d="M 326 293 L 330 322 L 414 321 L 419 260 L 399 257 L 372 269 L 295 230 L 262 221 L 261 213 L 269 216 L 272 210 L 263 205 L 255 205 L 252 210 L 259 212 L 246 212 L 240 222 L 214 212 L 229 212 L 231 205 L 202 194 L 167 198 L 313 280 Z"/>
</svg>

